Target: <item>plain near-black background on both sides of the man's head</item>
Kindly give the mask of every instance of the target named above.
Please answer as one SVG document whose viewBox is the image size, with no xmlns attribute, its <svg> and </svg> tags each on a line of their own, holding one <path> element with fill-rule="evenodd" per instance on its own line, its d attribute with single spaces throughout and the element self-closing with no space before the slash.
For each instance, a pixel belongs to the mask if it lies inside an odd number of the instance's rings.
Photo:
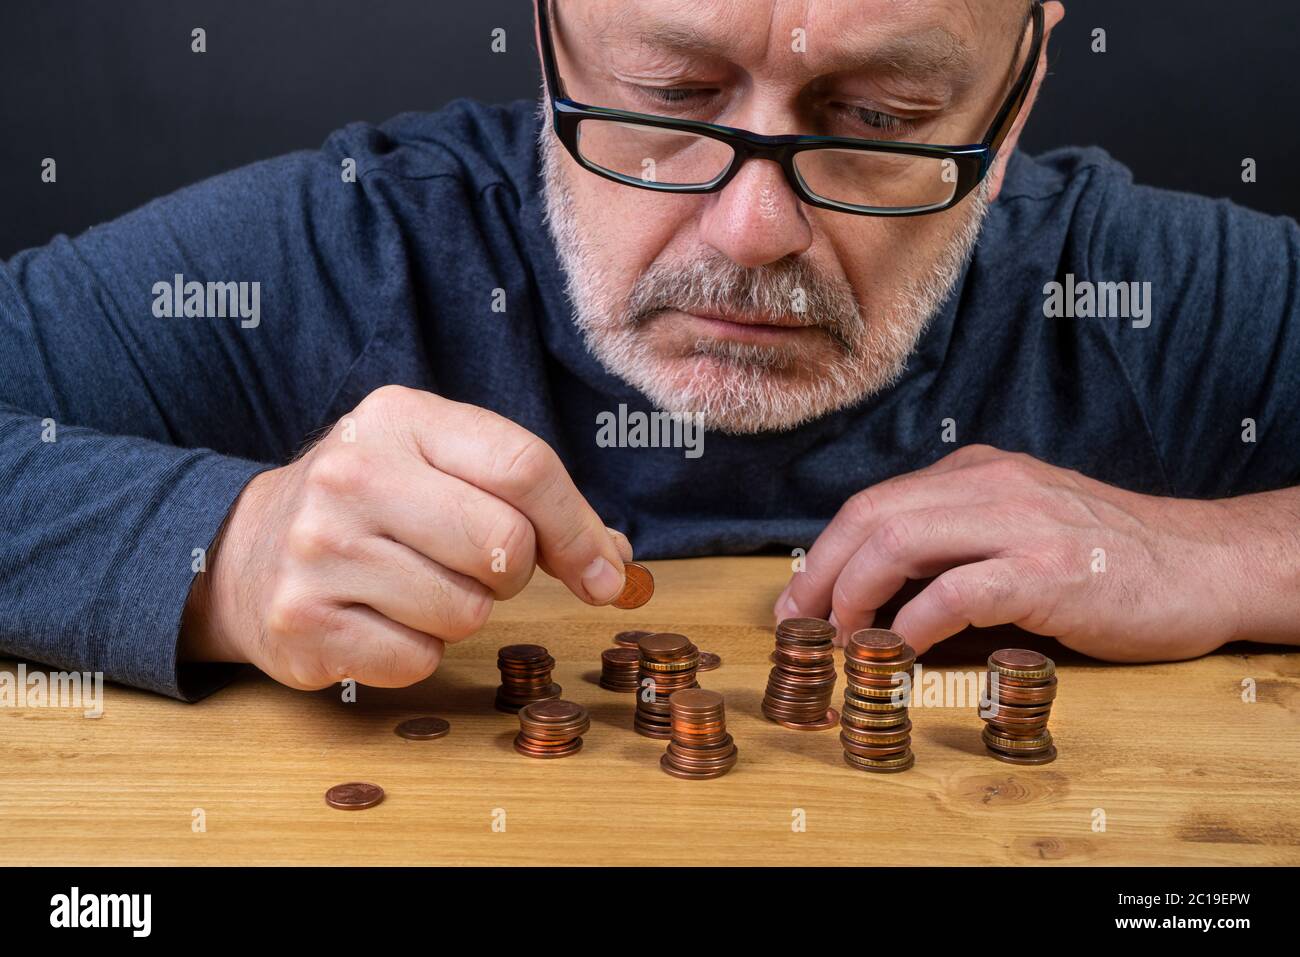
<svg viewBox="0 0 1300 957">
<path fill-rule="evenodd" d="M 1297 26 L 1295 0 L 1070 0 L 1023 146 L 1300 216 Z M 530 0 L 0 0 L 0 259 L 356 120 L 538 88 Z"/>
</svg>

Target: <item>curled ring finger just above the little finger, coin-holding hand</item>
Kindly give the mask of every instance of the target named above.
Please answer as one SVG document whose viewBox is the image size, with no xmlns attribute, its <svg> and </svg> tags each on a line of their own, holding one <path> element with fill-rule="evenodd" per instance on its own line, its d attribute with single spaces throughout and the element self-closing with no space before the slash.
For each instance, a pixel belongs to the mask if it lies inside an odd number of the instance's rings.
<svg viewBox="0 0 1300 957">
<path fill-rule="evenodd" d="M 326 572 L 343 601 L 443 641 L 468 638 L 488 623 L 494 594 L 482 583 L 390 538 L 367 536 L 354 547 Z"/>
</svg>

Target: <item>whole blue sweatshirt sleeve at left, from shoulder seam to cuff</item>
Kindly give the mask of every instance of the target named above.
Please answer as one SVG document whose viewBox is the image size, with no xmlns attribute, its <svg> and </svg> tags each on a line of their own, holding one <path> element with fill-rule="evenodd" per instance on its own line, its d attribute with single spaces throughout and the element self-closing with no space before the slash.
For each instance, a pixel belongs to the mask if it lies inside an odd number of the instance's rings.
<svg viewBox="0 0 1300 957">
<path fill-rule="evenodd" d="M 410 308 L 381 134 L 188 187 L 0 263 L 0 655 L 177 698 L 205 550 Z"/>
</svg>

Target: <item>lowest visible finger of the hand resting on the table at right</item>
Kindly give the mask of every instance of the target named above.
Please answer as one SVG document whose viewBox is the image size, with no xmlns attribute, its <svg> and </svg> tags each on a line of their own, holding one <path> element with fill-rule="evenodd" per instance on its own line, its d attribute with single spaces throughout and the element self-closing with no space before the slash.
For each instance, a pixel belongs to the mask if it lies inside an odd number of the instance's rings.
<svg viewBox="0 0 1300 957">
<path fill-rule="evenodd" d="M 968 627 L 1020 624 L 1034 616 L 1044 590 L 1036 576 L 1010 559 L 958 566 L 904 605 L 893 629 L 922 654 Z"/>
</svg>

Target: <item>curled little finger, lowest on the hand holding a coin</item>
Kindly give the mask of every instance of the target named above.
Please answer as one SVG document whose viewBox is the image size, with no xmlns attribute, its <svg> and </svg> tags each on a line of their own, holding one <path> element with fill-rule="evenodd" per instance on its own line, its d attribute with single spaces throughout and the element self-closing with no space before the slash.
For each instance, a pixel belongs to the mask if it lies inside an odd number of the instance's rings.
<svg viewBox="0 0 1300 957">
<path fill-rule="evenodd" d="M 322 637 L 317 661 L 308 668 L 316 672 L 316 680 L 308 684 L 329 687 L 352 679 L 372 688 L 404 688 L 437 671 L 443 649 L 441 638 L 355 605 L 341 610 Z M 295 674 L 300 670 L 295 668 Z"/>
</svg>

